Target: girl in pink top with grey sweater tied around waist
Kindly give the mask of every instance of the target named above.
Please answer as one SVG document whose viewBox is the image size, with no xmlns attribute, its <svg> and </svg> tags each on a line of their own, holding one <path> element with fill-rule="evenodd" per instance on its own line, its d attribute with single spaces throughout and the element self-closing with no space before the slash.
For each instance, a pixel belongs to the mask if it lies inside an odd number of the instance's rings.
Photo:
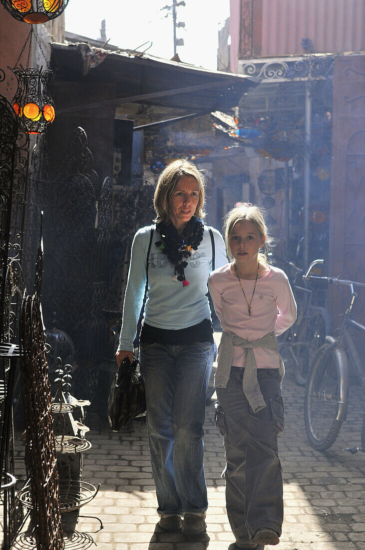
<svg viewBox="0 0 365 550">
<path fill-rule="evenodd" d="M 249 549 L 278 544 L 282 530 L 277 436 L 284 430 L 284 365 L 276 337 L 294 323 L 296 304 L 285 273 L 260 251 L 269 240 L 261 209 L 239 203 L 224 228 L 233 261 L 209 278 L 223 329 L 215 420 L 226 450 L 229 523 L 237 547 Z"/>
</svg>

